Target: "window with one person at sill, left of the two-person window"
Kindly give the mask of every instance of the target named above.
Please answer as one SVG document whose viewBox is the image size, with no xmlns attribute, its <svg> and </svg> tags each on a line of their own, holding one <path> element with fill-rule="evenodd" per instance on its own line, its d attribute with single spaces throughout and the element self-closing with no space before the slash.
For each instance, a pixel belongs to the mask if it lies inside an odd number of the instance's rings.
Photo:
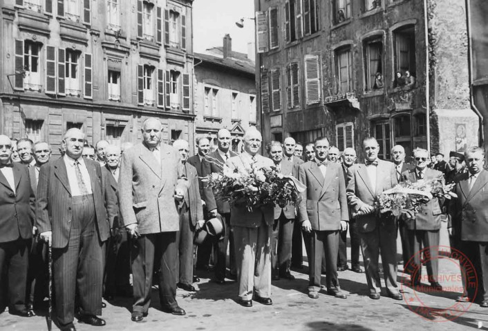
<svg viewBox="0 0 488 331">
<path fill-rule="evenodd" d="M 366 40 L 364 50 L 364 90 L 383 88 L 383 81 L 376 77 L 383 72 L 383 41 L 381 39 Z"/>
</svg>

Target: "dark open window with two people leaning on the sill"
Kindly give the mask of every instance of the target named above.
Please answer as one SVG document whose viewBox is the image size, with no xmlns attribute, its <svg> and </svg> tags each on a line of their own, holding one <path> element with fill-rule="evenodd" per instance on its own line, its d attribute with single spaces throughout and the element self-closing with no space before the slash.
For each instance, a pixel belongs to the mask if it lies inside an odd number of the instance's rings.
<svg viewBox="0 0 488 331">
<path fill-rule="evenodd" d="M 408 25 L 393 31 L 395 72 L 415 74 L 415 26 Z"/>
</svg>

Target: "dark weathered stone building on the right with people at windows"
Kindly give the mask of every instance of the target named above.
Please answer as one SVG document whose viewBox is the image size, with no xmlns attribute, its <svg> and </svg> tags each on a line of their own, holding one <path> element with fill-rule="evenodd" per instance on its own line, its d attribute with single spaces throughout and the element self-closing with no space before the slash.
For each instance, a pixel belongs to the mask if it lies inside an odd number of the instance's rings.
<svg viewBox="0 0 488 331">
<path fill-rule="evenodd" d="M 325 135 L 344 150 L 373 136 L 383 159 L 395 144 L 407 155 L 478 145 L 464 1 L 254 3 L 265 140 Z"/>
</svg>

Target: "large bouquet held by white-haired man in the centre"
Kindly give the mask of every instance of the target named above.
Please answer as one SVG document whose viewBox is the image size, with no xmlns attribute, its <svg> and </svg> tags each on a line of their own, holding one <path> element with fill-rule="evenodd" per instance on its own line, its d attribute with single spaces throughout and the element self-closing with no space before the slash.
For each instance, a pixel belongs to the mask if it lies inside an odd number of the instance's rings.
<svg viewBox="0 0 488 331">
<path fill-rule="evenodd" d="M 281 208 L 288 203 L 295 205 L 299 193 L 305 190 L 296 178 L 281 174 L 275 167 L 246 170 L 221 166 L 221 172 L 214 172 L 202 181 L 214 190 L 217 199 L 245 205 L 249 211 L 270 203 Z"/>
</svg>

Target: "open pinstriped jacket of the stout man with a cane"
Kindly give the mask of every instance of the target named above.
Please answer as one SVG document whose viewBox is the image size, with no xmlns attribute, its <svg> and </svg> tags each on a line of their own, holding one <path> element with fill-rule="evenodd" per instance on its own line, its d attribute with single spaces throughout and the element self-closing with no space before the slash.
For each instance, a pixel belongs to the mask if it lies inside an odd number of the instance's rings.
<svg viewBox="0 0 488 331">
<path fill-rule="evenodd" d="M 110 224 L 102 192 L 102 169 L 98 162 L 85 159 L 84 163 L 90 174 L 98 236 L 100 241 L 106 241 L 110 237 Z M 68 245 L 71 212 L 72 197 L 64 158 L 50 161 L 39 172 L 36 222 L 39 233 L 53 231 L 53 248 L 64 248 Z"/>
</svg>

